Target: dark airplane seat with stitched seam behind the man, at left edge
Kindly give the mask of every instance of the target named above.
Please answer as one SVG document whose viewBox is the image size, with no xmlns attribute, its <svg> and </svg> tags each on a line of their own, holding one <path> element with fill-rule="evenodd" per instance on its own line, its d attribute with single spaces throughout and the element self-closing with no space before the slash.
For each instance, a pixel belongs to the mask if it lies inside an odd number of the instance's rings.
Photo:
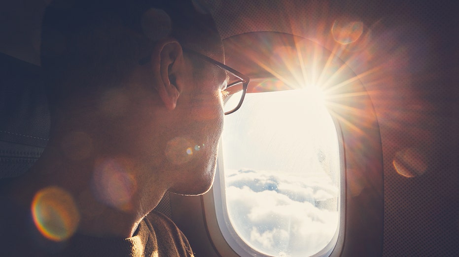
<svg viewBox="0 0 459 257">
<path fill-rule="evenodd" d="M 43 152 L 49 111 L 40 67 L 0 53 L 0 178 L 23 174 Z"/>
</svg>

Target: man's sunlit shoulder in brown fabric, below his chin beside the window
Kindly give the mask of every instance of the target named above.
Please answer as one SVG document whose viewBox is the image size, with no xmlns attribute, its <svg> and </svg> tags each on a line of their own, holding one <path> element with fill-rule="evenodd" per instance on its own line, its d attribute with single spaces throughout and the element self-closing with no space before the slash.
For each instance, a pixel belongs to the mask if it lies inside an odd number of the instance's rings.
<svg viewBox="0 0 459 257">
<path fill-rule="evenodd" d="M 162 256 L 161 253 L 171 256 L 175 251 L 177 256 L 194 256 L 188 239 L 169 217 L 151 211 L 144 220 L 150 232 L 156 236 L 159 256 Z"/>
</svg>

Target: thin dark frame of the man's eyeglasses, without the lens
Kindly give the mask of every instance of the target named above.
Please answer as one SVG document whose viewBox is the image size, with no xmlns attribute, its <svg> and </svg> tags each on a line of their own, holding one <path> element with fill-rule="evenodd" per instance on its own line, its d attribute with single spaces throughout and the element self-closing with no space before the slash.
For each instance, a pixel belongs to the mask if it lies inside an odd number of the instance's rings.
<svg viewBox="0 0 459 257">
<path fill-rule="evenodd" d="M 229 66 L 227 66 L 227 65 L 225 65 L 225 64 L 223 64 L 223 63 L 221 63 L 221 62 L 219 62 L 217 60 L 212 59 L 211 57 L 205 56 L 205 55 L 203 55 L 201 53 L 198 53 L 196 51 L 193 51 L 191 49 L 184 48 L 183 52 L 186 52 L 186 53 L 189 53 L 189 54 L 193 54 L 196 57 L 200 57 L 201 59 L 204 59 L 205 61 L 210 62 L 211 64 L 217 66 L 218 68 L 223 69 L 223 70 L 233 74 L 236 78 L 241 80 L 241 81 L 233 82 L 233 83 L 231 83 L 229 85 L 226 85 L 226 88 L 229 88 L 231 86 L 234 86 L 234 85 L 239 84 L 239 83 L 242 82 L 242 95 L 241 95 L 241 99 L 239 100 L 238 105 L 235 108 L 233 108 L 232 110 L 230 110 L 228 112 L 225 112 L 224 114 L 225 115 L 232 114 L 232 113 L 236 112 L 237 110 L 239 110 L 239 108 L 241 108 L 241 106 L 242 106 L 242 103 L 244 102 L 244 98 L 246 96 L 247 86 L 248 86 L 248 83 L 250 82 L 250 78 L 247 77 L 246 75 L 240 73 L 239 71 L 237 71 L 237 70 L 235 70 L 235 69 L 233 69 L 233 68 L 231 68 L 231 67 L 229 67 Z M 149 61 L 150 61 L 150 56 L 144 57 L 144 58 L 141 58 L 139 60 L 139 64 L 140 65 L 144 65 L 144 64 L 148 63 Z"/>
</svg>

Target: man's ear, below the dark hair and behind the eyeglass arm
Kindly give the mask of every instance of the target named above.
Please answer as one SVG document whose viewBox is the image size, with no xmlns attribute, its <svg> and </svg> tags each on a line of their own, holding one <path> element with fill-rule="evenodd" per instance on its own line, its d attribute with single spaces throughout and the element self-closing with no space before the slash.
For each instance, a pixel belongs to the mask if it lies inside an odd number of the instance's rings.
<svg viewBox="0 0 459 257">
<path fill-rule="evenodd" d="M 181 92 L 176 80 L 183 65 L 180 43 L 174 38 L 160 40 L 155 45 L 151 60 L 156 90 L 166 108 L 174 110 Z"/>
</svg>

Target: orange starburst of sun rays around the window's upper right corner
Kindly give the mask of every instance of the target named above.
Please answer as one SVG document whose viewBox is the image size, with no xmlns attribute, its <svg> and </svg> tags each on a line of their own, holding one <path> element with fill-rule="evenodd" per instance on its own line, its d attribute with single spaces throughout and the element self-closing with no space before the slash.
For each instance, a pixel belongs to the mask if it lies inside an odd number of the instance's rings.
<svg viewBox="0 0 459 257">
<path fill-rule="evenodd" d="M 263 4 L 249 5 L 267 8 Z M 417 23 L 394 27 L 390 17 L 369 19 L 343 13 L 327 1 L 300 5 L 287 2 L 264 9 L 266 17 L 257 19 L 247 18 L 245 10 L 232 14 L 232 26 L 280 31 L 278 39 L 249 38 L 240 46 L 246 49 L 244 53 L 227 48 L 225 43 L 227 64 L 238 62 L 231 59 L 234 52 L 240 52 L 238 59 L 248 59 L 242 67 L 235 67 L 243 73 L 248 70 L 247 92 L 318 87 L 329 113 L 355 136 L 378 141 L 380 137 L 368 131 L 383 126 L 391 133 L 391 140 L 386 141 L 390 145 L 397 145 L 395 141 L 406 143 L 405 147 L 433 142 L 428 127 L 439 117 L 428 100 L 435 95 L 435 86 L 427 85 L 438 80 L 434 77 L 438 76 L 438 59 L 430 58 L 435 38 L 426 37 L 425 29 Z M 225 30 L 225 24 L 219 26 L 229 33 L 224 37 L 235 31 Z M 228 39 L 231 37 L 225 41 Z"/>
</svg>

